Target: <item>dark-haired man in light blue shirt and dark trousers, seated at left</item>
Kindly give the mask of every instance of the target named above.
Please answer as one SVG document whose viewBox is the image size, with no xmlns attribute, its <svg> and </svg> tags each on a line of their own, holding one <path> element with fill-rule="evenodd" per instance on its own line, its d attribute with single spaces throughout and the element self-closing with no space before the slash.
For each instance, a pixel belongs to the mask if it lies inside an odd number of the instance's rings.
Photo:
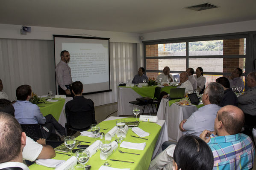
<svg viewBox="0 0 256 170">
<path fill-rule="evenodd" d="M 13 104 L 15 118 L 20 124 L 41 124 L 43 138 L 49 138 L 55 129 L 60 135 L 65 135 L 65 128 L 59 124 L 53 115 L 43 116 L 39 107 L 32 104 L 29 99 L 32 96 L 32 89 L 29 85 L 21 85 L 16 89 L 17 101 Z"/>
</svg>

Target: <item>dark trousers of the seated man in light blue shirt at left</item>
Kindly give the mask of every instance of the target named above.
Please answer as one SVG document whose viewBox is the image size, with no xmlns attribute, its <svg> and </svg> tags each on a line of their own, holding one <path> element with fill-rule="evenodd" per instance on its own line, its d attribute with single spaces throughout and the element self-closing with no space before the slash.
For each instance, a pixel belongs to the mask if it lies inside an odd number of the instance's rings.
<svg viewBox="0 0 256 170">
<path fill-rule="evenodd" d="M 59 132 L 60 135 L 65 135 L 65 128 L 62 127 L 62 125 L 59 124 L 58 121 L 56 121 L 53 115 L 46 115 L 44 117 L 46 118 L 46 121 L 45 124 L 43 124 L 42 126 L 46 127 L 49 130 L 49 132 L 41 128 L 43 138 L 49 138 L 51 133 L 55 133 L 55 130 L 57 130 L 57 132 Z"/>
</svg>

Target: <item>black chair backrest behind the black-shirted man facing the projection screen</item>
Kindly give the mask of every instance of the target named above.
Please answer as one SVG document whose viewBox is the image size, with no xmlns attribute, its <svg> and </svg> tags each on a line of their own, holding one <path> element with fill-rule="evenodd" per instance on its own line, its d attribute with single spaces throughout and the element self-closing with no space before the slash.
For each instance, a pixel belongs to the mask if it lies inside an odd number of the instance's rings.
<svg viewBox="0 0 256 170">
<path fill-rule="evenodd" d="M 65 135 L 67 135 L 67 130 L 88 130 L 91 124 L 96 123 L 93 113 L 94 109 L 83 112 L 71 112 L 70 115 L 66 113 L 67 123 L 65 124 Z"/>
</svg>

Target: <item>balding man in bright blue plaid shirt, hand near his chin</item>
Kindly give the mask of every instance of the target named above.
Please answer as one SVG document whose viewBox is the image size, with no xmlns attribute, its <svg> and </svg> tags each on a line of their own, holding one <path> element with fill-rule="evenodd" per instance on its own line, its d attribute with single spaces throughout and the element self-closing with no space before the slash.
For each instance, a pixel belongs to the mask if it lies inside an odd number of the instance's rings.
<svg viewBox="0 0 256 170">
<path fill-rule="evenodd" d="M 213 153 L 213 170 L 249 170 L 253 167 L 255 150 L 250 137 L 240 133 L 243 124 L 243 111 L 227 105 L 217 112 L 215 131 L 204 130 L 201 133 L 200 138 Z"/>
</svg>

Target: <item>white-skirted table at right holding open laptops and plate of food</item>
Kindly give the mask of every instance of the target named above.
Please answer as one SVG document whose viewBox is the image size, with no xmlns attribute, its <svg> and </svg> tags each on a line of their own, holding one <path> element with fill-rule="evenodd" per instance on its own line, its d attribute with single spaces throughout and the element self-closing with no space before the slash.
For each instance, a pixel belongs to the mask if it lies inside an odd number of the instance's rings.
<svg viewBox="0 0 256 170">
<path fill-rule="evenodd" d="M 182 132 L 179 130 L 179 123 L 184 119 L 188 119 L 198 108 L 203 107 L 203 104 L 179 106 L 175 103 L 177 101 L 180 101 L 180 99 L 169 101 L 167 98 L 162 98 L 156 115 L 158 119 L 166 121 L 168 140 L 176 142 L 182 136 Z"/>
</svg>

